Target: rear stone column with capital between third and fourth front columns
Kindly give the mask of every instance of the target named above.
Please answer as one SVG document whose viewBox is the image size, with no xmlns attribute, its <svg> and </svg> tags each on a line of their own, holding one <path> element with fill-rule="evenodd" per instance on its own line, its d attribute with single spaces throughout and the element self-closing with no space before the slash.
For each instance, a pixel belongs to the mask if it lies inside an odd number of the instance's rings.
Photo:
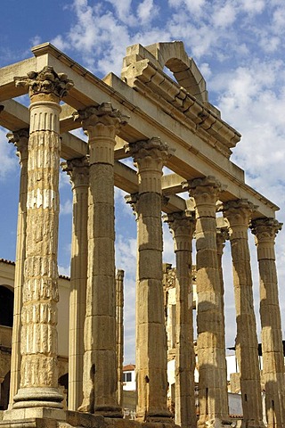
<svg viewBox="0 0 285 428">
<path fill-rule="evenodd" d="M 196 428 L 195 352 L 191 286 L 191 241 L 195 216 L 191 211 L 166 216 L 175 241 L 176 256 L 176 343 L 175 343 L 175 424 L 182 428 Z"/>
</svg>

